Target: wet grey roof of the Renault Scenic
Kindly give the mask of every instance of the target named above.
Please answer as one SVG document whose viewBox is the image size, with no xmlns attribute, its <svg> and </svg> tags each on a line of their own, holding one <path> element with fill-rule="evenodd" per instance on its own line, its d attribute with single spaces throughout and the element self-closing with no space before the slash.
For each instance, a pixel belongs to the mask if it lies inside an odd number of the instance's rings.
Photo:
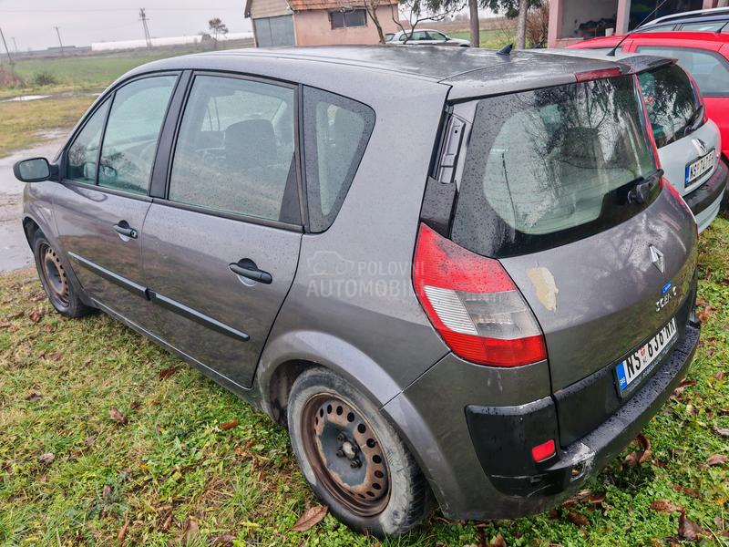
<svg viewBox="0 0 729 547">
<path fill-rule="evenodd" d="M 274 58 L 297 61 L 299 66 L 305 64 L 309 71 L 326 64 L 425 78 L 451 86 L 448 98 L 453 99 L 573 83 L 575 73 L 620 67 L 612 61 L 547 55 L 538 50 L 501 55 L 490 49 L 439 46 L 249 47 L 161 59 L 136 68 L 128 75 L 150 70 L 245 71 L 247 62 L 255 60 L 258 64 Z M 323 81 L 322 88 L 325 84 Z"/>
</svg>

